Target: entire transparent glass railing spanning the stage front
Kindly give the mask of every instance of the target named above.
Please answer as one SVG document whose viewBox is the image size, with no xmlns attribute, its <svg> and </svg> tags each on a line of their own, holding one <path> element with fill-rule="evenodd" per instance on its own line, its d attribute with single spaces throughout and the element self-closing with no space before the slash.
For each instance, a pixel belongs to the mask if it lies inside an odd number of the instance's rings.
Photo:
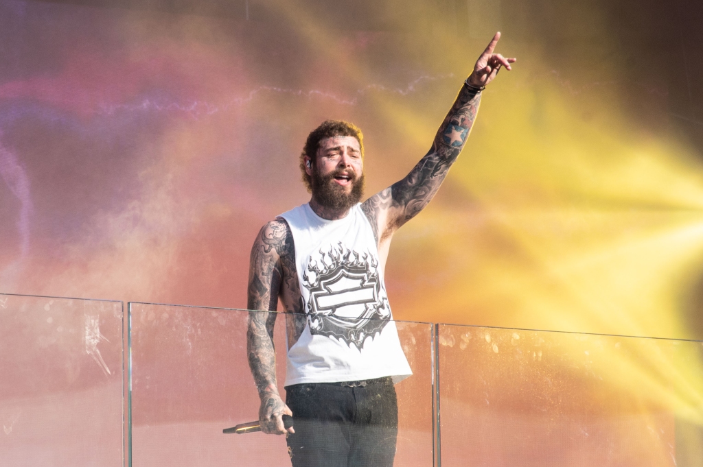
<svg viewBox="0 0 703 467">
<path fill-rule="evenodd" d="M 0 465 L 290 466 L 283 436 L 223 433 L 258 417 L 249 312 L 128 309 L 123 375 L 121 303 L 0 295 Z M 394 385 L 396 466 L 703 466 L 699 341 L 394 326 L 412 371 Z"/>
</svg>

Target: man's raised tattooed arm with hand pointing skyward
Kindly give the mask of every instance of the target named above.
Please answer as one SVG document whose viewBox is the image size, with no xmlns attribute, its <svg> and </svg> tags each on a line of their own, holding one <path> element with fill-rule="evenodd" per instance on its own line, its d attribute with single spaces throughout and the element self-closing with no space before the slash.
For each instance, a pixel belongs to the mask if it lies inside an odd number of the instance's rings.
<svg viewBox="0 0 703 467">
<path fill-rule="evenodd" d="M 367 199 L 362 209 L 382 243 L 395 230 L 422 211 L 439 190 L 449 167 L 456 161 L 473 126 L 481 102 L 481 91 L 501 67 L 510 70 L 515 58 L 493 53 L 501 33 L 496 33 L 476 62 L 459 95 L 446 115 L 430 151 L 402 180 Z"/>
</svg>

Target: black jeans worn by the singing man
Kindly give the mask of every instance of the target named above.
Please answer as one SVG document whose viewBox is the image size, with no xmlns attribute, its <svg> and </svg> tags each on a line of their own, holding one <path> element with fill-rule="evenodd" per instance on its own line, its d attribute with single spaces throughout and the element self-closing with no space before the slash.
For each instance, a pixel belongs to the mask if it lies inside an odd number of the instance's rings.
<svg viewBox="0 0 703 467">
<path fill-rule="evenodd" d="M 288 452 L 293 467 L 392 467 L 398 401 L 390 378 L 366 386 L 294 384 L 285 388 L 293 412 Z"/>
</svg>

